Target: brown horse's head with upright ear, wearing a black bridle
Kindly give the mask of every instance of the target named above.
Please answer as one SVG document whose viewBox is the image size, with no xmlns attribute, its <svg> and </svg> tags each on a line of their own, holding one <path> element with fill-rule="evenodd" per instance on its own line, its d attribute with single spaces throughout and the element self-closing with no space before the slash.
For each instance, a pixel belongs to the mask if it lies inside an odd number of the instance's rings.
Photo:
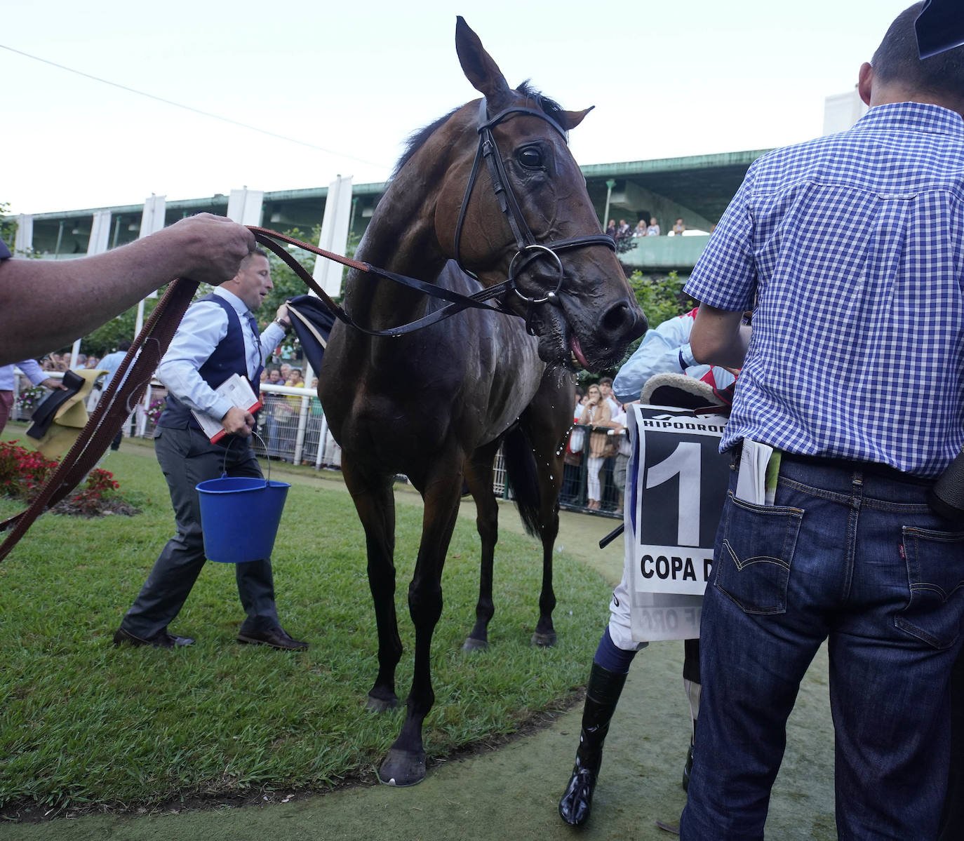
<svg viewBox="0 0 964 841">
<path fill-rule="evenodd" d="M 448 122 L 438 242 L 486 286 L 514 278 L 505 302 L 526 316 L 547 362 L 611 365 L 647 325 L 566 142 L 591 109 L 511 89 L 462 17 L 455 41 L 485 98 Z"/>
</svg>

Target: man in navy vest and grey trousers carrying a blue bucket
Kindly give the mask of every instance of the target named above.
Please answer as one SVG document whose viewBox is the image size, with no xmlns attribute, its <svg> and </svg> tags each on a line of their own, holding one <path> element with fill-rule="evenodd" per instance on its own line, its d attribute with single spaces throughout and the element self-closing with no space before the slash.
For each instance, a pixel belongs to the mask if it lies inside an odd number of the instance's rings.
<svg viewBox="0 0 964 841">
<path fill-rule="evenodd" d="M 177 534 L 168 540 L 147 582 L 124 616 L 114 643 L 174 648 L 194 640 L 168 630 L 204 565 L 204 541 L 196 486 L 228 476 L 261 477 L 251 448 L 254 415 L 232 406 L 216 392 L 233 374 L 247 377 L 255 391 L 263 360 L 281 343 L 290 327 L 287 306 L 260 335 L 252 311 L 272 289 L 271 267 L 262 250 L 241 262 L 238 274 L 188 309 L 171 347 L 157 369 L 168 389 L 167 407 L 155 433 L 155 452 L 171 490 Z M 228 433 L 211 443 L 201 432 L 192 409 L 221 421 Z M 239 643 L 299 650 L 307 643 L 292 640 L 281 628 L 275 608 L 271 560 L 236 565 L 238 594 L 247 617 Z"/>
</svg>

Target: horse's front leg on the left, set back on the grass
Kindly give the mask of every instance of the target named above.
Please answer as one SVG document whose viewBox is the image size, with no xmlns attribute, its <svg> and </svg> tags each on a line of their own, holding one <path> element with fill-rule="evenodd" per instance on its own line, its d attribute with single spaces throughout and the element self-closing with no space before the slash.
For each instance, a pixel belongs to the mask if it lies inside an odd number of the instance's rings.
<svg viewBox="0 0 964 841">
<path fill-rule="evenodd" d="M 398 706 L 395 667 L 402 656 L 395 616 L 395 498 L 386 476 L 365 475 L 342 453 L 342 475 L 364 528 L 368 551 L 368 587 L 378 627 L 378 675 L 368 692 L 367 708 L 383 712 Z"/>
</svg>

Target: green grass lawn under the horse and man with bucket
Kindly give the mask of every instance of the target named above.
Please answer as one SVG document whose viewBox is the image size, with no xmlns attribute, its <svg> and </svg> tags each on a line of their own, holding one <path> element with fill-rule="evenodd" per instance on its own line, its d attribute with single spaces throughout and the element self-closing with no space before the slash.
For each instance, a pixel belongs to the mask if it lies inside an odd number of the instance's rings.
<svg viewBox="0 0 964 841">
<path fill-rule="evenodd" d="M 22 438 L 22 429 L 4 437 Z M 124 808 L 373 779 L 404 707 L 364 710 L 377 640 L 362 528 L 343 487 L 307 472 L 279 477 L 296 483 L 273 556 L 279 614 L 296 639 L 310 642 L 308 652 L 236 644 L 243 617 L 234 567 L 213 563 L 172 623 L 196 644 L 117 648 L 112 635 L 174 526 L 157 462 L 134 444 L 123 449 L 103 466 L 142 514 L 46 514 L 0 564 L 0 807 Z M 421 505 L 407 490 L 396 495 L 396 601 L 406 648 L 396 691 L 404 698 L 414 648 L 406 593 Z M 20 508 L 0 499 L 0 516 Z M 566 704 L 584 683 L 608 588 L 583 565 L 556 559 L 559 644 L 529 645 L 541 550 L 503 530 L 491 647 L 467 656 L 461 645 L 474 618 L 478 539 L 472 518 L 459 518 L 433 644 L 430 760 L 511 733 Z"/>
</svg>

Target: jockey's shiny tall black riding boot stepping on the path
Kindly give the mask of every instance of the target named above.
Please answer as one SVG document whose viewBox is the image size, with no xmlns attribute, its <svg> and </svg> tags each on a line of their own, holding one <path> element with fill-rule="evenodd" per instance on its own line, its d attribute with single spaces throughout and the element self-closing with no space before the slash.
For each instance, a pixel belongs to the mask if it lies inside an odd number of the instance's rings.
<svg viewBox="0 0 964 841">
<path fill-rule="evenodd" d="M 603 764 L 603 742 L 609 732 L 609 721 L 625 683 L 625 673 L 609 671 L 598 663 L 593 663 L 593 669 L 589 673 L 589 686 L 586 688 L 586 705 L 582 711 L 576 766 L 573 768 L 573 776 L 566 787 L 566 793 L 559 801 L 559 815 L 574 827 L 589 820 L 596 776 Z"/>
</svg>

